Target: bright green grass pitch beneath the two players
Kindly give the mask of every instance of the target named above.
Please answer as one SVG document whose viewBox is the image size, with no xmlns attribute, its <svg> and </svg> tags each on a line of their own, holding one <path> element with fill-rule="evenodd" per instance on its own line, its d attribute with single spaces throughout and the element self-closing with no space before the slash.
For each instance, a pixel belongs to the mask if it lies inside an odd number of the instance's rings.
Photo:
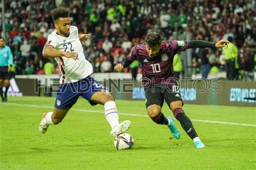
<svg viewBox="0 0 256 170">
<path fill-rule="evenodd" d="M 179 140 L 172 138 L 166 126 L 147 117 L 144 101 L 117 100 L 119 120 L 131 120 L 127 133 L 134 138 L 132 149 L 118 151 L 104 117 L 104 107 L 90 106 L 84 99 L 77 101 L 62 123 L 40 134 L 42 114 L 52 111 L 54 101 L 55 98 L 47 97 L 10 97 L 8 103 L 0 103 L 0 169 L 256 167 L 255 107 L 185 104 L 185 113 L 206 145 L 196 149 L 177 120 L 174 123 L 181 132 Z M 162 112 L 173 117 L 166 104 Z"/>
</svg>

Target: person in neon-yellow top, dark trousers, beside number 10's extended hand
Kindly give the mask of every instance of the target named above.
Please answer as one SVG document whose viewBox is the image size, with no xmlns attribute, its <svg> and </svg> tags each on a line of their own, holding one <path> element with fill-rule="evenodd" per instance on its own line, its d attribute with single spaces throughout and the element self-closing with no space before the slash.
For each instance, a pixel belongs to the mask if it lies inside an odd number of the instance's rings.
<svg viewBox="0 0 256 170">
<path fill-rule="evenodd" d="M 235 59 L 238 57 L 237 46 L 233 42 L 232 37 L 228 37 L 230 42 L 227 47 L 223 47 L 226 62 L 227 79 L 233 80 L 235 78 Z"/>
</svg>

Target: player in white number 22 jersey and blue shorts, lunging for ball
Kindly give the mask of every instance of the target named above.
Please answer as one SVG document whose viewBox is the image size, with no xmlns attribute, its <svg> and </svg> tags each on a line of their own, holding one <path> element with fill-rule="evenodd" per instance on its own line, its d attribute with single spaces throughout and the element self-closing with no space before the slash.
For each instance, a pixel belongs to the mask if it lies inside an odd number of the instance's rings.
<svg viewBox="0 0 256 170">
<path fill-rule="evenodd" d="M 119 115 L 113 96 L 98 81 L 91 77 L 92 65 L 84 56 L 81 42 L 87 42 L 89 35 L 78 35 L 76 26 L 70 25 L 69 10 L 63 7 L 51 11 L 56 30 L 48 36 L 43 56 L 55 58 L 62 72 L 53 112 L 43 114 L 39 132 L 45 133 L 49 125 L 59 124 L 76 103 L 79 96 L 91 105 L 102 104 L 105 117 L 112 128 L 113 137 L 128 130 L 131 122 L 119 124 Z"/>
</svg>

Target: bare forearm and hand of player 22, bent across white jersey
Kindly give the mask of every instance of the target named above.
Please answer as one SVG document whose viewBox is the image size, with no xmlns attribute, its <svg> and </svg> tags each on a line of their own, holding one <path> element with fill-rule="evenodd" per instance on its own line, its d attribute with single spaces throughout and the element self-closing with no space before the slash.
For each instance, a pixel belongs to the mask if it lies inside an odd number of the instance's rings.
<svg viewBox="0 0 256 170">
<path fill-rule="evenodd" d="M 67 58 L 73 58 L 75 60 L 78 59 L 78 54 L 76 52 L 58 51 L 58 50 L 54 49 L 53 46 L 50 46 L 50 45 L 44 46 L 43 56 L 44 57 L 52 57 L 52 58 L 64 56 Z"/>
</svg>

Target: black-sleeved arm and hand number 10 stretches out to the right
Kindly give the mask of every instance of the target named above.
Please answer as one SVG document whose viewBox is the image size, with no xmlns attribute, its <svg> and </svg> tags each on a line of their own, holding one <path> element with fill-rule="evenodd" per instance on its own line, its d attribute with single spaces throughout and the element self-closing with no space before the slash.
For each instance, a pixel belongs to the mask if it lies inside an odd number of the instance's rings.
<svg viewBox="0 0 256 170">
<path fill-rule="evenodd" d="M 220 48 L 228 45 L 228 40 L 221 39 L 217 43 L 206 42 L 205 40 L 190 40 L 188 41 L 188 49 L 191 48 Z"/>
</svg>

